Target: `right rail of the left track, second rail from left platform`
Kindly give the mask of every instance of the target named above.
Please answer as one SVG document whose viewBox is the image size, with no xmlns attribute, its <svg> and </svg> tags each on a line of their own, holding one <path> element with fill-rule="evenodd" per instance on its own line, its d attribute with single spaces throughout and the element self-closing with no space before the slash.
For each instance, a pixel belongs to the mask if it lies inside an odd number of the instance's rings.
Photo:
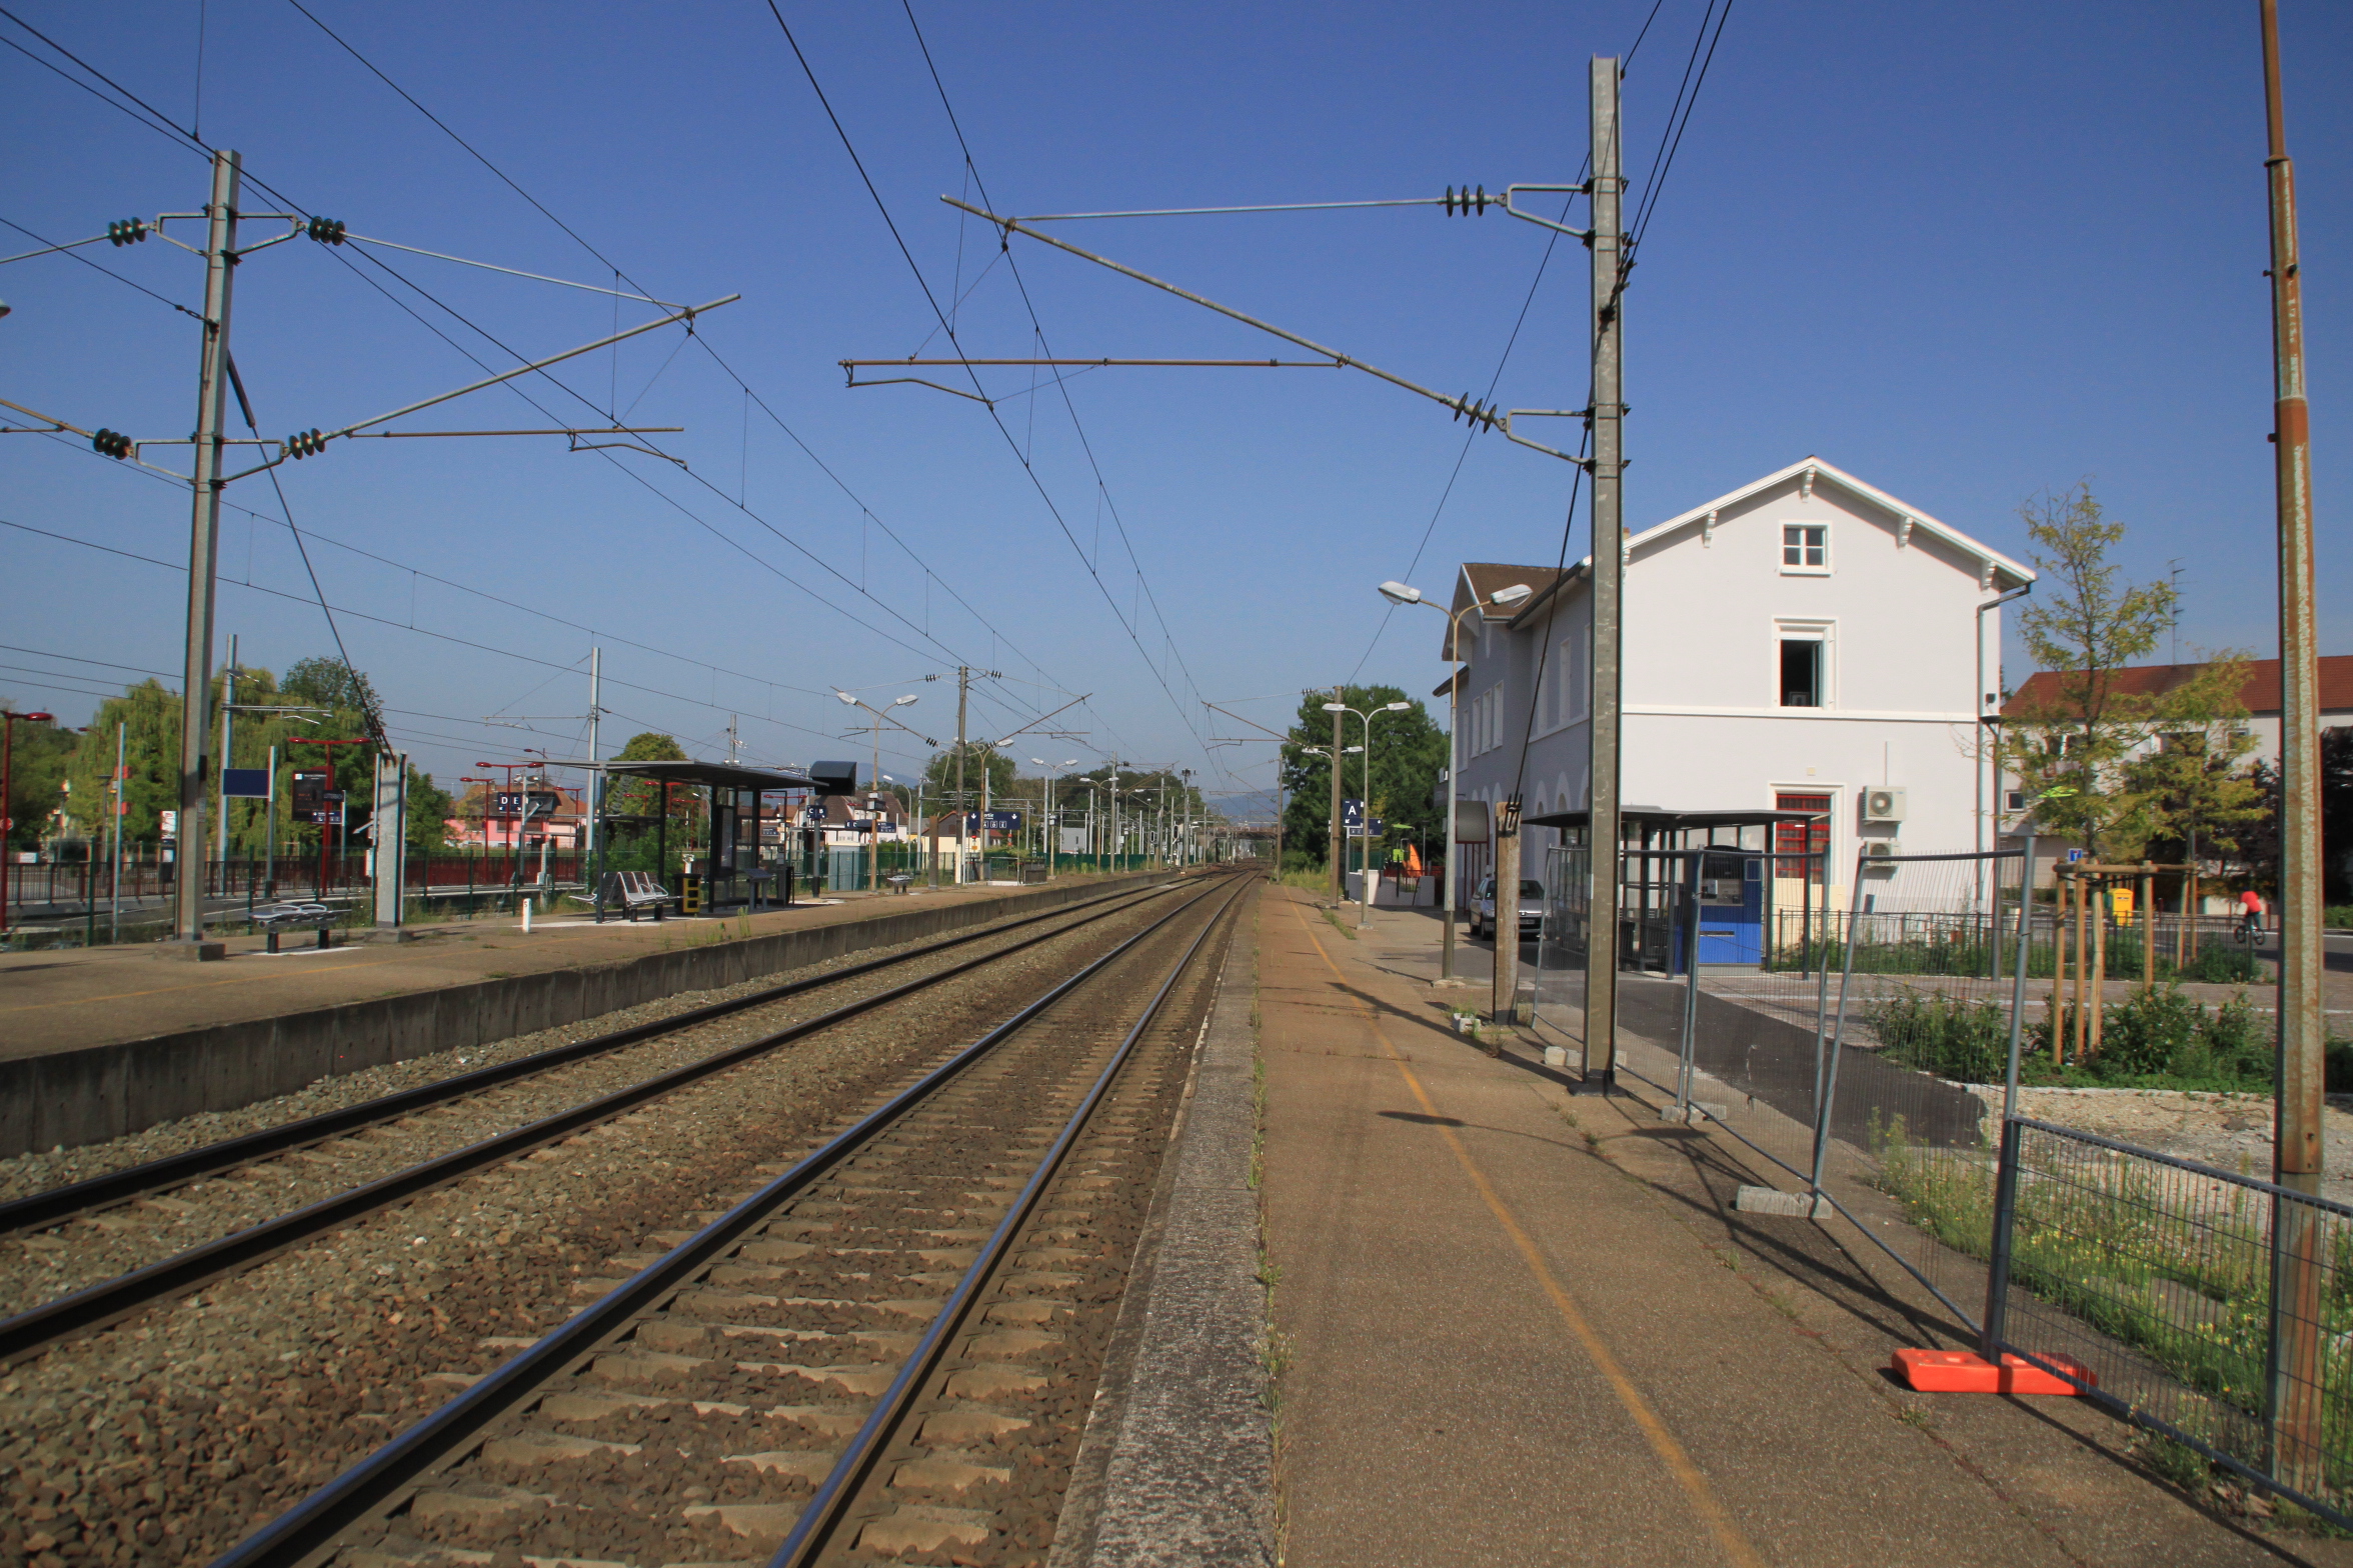
<svg viewBox="0 0 2353 1568">
<path fill-rule="evenodd" d="M 1108 917 L 1115 910 L 1106 910 L 1104 914 Z M 402 1171 L 393 1171 L 391 1175 L 362 1182 L 360 1187 L 334 1192 L 315 1204 L 306 1204 L 304 1208 L 287 1211 L 249 1229 L 174 1253 L 141 1269 L 132 1269 L 129 1274 L 118 1274 L 115 1279 L 104 1279 L 71 1295 L 59 1295 L 56 1300 L 33 1307 L 31 1312 L 19 1312 L 16 1316 L 0 1321 L 0 1366 L 12 1366 L 26 1356 L 42 1354 L 61 1340 L 92 1333 L 132 1316 L 134 1312 L 144 1312 L 160 1300 L 186 1295 L 188 1291 L 198 1291 L 214 1279 L 249 1269 L 292 1246 L 301 1246 L 311 1237 L 341 1229 L 344 1225 L 362 1220 L 379 1208 L 391 1208 L 393 1204 L 445 1187 L 464 1175 L 473 1175 L 475 1171 L 520 1159 L 532 1150 L 569 1138 L 600 1121 L 609 1121 L 647 1100 L 659 1100 L 675 1088 L 685 1088 L 687 1084 L 701 1081 L 715 1072 L 748 1063 L 774 1051 L 776 1046 L 786 1046 L 805 1034 L 816 1034 L 819 1030 L 831 1030 L 838 1023 L 871 1013 L 889 1001 L 913 997 L 920 990 L 953 980 L 955 976 L 981 969 L 984 964 L 995 964 L 998 959 L 1035 947 L 1038 943 L 1049 943 L 1056 936 L 1061 936 L 1061 931 L 1042 931 L 1028 940 L 1014 943 L 1012 947 L 984 952 L 974 959 L 965 959 L 962 964 L 951 964 L 936 973 L 918 976 L 904 985 L 875 992 L 873 997 L 845 1001 L 828 1013 L 786 1025 L 774 1034 L 762 1034 L 760 1039 L 741 1046 L 729 1046 L 727 1051 L 706 1056 L 699 1063 L 687 1063 L 682 1067 L 673 1067 L 671 1072 L 640 1079 L 638 1084 L 595 1100 L 584 1100 L 581 1105 L 555 1112 L 553 1117 L 541 1117 L 539 1121 L 496 1133 L 494 1138 L 466 1145 L 464 1150 L 438 1154 Z"/>
</svg>

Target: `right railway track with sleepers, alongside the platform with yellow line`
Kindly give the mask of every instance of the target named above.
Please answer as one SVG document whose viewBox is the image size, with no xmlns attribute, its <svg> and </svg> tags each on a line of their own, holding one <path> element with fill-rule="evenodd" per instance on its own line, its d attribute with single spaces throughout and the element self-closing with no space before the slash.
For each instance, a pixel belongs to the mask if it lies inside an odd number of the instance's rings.
<svg viewBox="0 0 2353 1568">
<path fill-rule="evenodd" d="M 452 1373 L 214 1568 L 1042 1563 L 1249 882 L 1198 886 L 708 1222 L 647 1215 L 607 1265 L 628 1279 Z"/>
</svg>

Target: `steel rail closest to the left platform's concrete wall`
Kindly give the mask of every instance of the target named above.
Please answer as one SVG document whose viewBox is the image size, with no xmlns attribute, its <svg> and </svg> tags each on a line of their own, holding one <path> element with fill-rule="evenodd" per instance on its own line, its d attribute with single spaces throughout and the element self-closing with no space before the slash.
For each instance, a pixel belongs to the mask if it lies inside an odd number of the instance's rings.
<svg viewBox="0 0 2353 1568">
<path fill-rule="evenodd" d="M 1144 889 L 1141 896 L 1153 898 L 1167 891 L 1167 886 L 1172 884 L 1158 884 Z M 619 1051 L 621 1046 L 633 1046 L 638 1041 L 654 1039 L 656 1034 L 671 1034 L 673 1030 L 687 1030 L 699 1023 L 711 1023 L 713 1018 L 727 1018 L 729 1013 L 767 1006 L 769 1001 L 784 1001 L 786 997 L 798 997 L 802 992 L 819 990 L 824 985 L 838 985 L 840 980 L 871 976 L 878 969 L 892 969 L 894 964 L 911 964 L 915 959 L 927 959 L 934 952 L 962 947 L 965 943 L 979 943 L 991 936 L 1002 936 L 1005 931 L 1019 931 L 1021 926 L 1033 926 L 1040 919 L 1073 914 L 1078 910 L 1087 910 L 1113 898 L 1129 898 L 1132 893 L 1136 893 L 1136 889 L 1101 893 L 1096 898 L 1068 903 L 1059 910 L 1045 910 L 1042 914 L 1024 914 L 1021 919 L 993 924 L 981 931 L 967 931 L 962 936 L 951 936 L 939 943 L 927 943 L 911 952 L 866 959 L 864 964 L 849 964 L 847 969 L 809 976 L 805 980 L 786 980 L 784 985 L 769 985 L 746 997 L 711 1001 L 706 1006 L 687 1009 L 685 1013 L 673 1013 L 668 1018 L 654 1018 L 647 1023 L 628 1025 L 626 1030 L 609 1030 L 605 1034 L 591 1034 L 588 1039 L 574 1039 L 572 1044 L 565 1046 L 551 1046 L 548 1051 L 534 1051 L 532 1056 L 518 1056 L 511 1063 L 475 1067 L 473 1072 L 461 1072 L 452 1079 L 419 1084 L 416 1088 L 402 1088 L 388 1095 L 376 1095 L 374 1100 L 360 1100 L 358 1105 L 346 1105 L 341 1110 L 304 1117 L 301 1121 L 266 1126 L 254 1133 L 242 1133 L 238 1138 L 224 1138 L 221 1143 L 207 1143 L 202 1147 L 184 1150 L 179 1154 L 165 1154 L 162 1159 L 151 1159 L 146 1164 L 129 1166 L 125 1171 L 108 1171 L 106 1175 L 92 1175 L 89 1180 L 73 1182 L 66 1187 L 49 1187 L 47 1192 L 33 1192 L 28 1197 L 0 1204 L 0 1234 L 16 1229 L 42 1229 L 61 1220 L 71 1220 L 73 1215 L 129 1204 L 132 1199 L 146 1197 L 151 1192 L 167 1192 L 169 1187 L 184 1187 L 193 1180 L 202 1180 L 219 1171 L 235 1171 L 238 1166 L 249 1166 L 256 1159 L 273 1159 L 278 1154 L 287 1154 L 292 1150 L 306 1150 L 329 1138 L 344 1138 L 365 1126 L 376 1126 L 381 1121 L 398 1121 L 400 1117 L 412 1117 L 421 1110 L 447 1105 L 449 1100 L 464 1100 L 466 1095 L 482 1093 L 485 1088 L 513 1084 L 518 1079 L 536 1077 L 555 1067 L 567 1067 L 572 1063 L 588 1060 L 593 1056 L 605 1056 L 607 1051 Z M 1115 914 L 1115 910 L 1104 910 L 1104 914 L 1096 914 L 1092 919 L 1104 919 L 1106 914 Z"/>
</svg>

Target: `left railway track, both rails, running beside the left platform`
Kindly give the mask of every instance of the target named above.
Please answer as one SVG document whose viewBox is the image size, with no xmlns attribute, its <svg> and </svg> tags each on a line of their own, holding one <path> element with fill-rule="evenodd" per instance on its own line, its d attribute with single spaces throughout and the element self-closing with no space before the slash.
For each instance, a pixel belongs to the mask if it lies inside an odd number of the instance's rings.
<svg viewBox="0 0 2353 1568">
<path fill-rule="evenodd" d="M 16 1312 L 14 1316 L 0 1319 L 0 1366 L 12 1366 L 28 1356 L 38 1356 L 49 1347 L 118 1324 L 136 1312 L 144 1312 L 158 1302 L 186 1295 L 209 1281 L 247 1269 L 266 1258 L 282 1253 L 289 1246 L 299 1246 L 320 1237 L 322 1232 L 351 1225 L 381 1208 L 405 1204 L 424 1192 L 454 1182 L 464 1175 L 485 1171 L 489 1166 L 506 1164 L 511 1159 L 532 1154 L 551 1143 L 572 1138 L 598 1124 L 607 1124 L 624 1117 L 649 1100 L 675 1093 L 689 1084 L 711 1079 L 720 1072 L 739 1067 L 748 1060 L 767 1056 L 779 1046 L 805 1039 L 845 1020 L 859 1018 L 873 1009 L 889 1001 L 913 997 L 922 990 L 936 987 L 946 980 L 974 973 L 1014 954 L 1028 952 L 1042 943 L 1068 936 L 1104 919 L 1113 919 L 1136 905 L 1151 903 L 1153 898 L 1165 898 L 1176 884 L 1158 884 L 1144 891 L 1118 891 L 1099 898 L 1089 898 L 1078 905 L 1064 905 L 1061 910 L 1047 910 L 1042 914 L 1028 914 L 1014 922 L 1000 922 L 981 931 L 967 931 L 936 943 L 922 943 L 906 952 L 887 954 L 880 959 L 868 959 L 861 964 L 849 964 L 819 976 L 807 976 L 800 980 L 788 980 L 784 985 L 760 987 L 755 992 L 729 997 L 708 1006 L 689 1009 L 668 1018 L 656 1018 L 647 1023 L 631 1025 L 626 1030 L 612 1030 L 588 1039 L 569 1041 L 565 1046 L 539 1051 L 534 1056 L 515 1058 L 475 1072 L 440 1079 L 435 1084 L 421 1084 L 393 1095 L 381 1095 L 376 1100 L 365 1100 L 318 1117 L 306 1117 L 301 1121 L 289 1121 L 285 1126 L 264 1128 L 224 1143 L 205 1145 L 174 1154 L 167 1159 L 132 1166 L 127 1171 L 108 1173 L 68 1187 L 56 1187 L 49 1192 L 31 1194 L 12 1204 L 0 1204 L 0 1232 L 40 1232 L 71 1225 L 75 1220 L 92 1220 L 120 1211 L 127 1204 L 141 1204 L 146 1215 L 115 1220 L 120 1227 L 125 1222 L 139 1225 L 146 1218 L 153 1227 L 151 1251 L 165 1251 L 165 1255 L 153 1258 L 139 1267 L 125 1269 L 108 1279 L 99 1279 L 82 1288 L 66 1291 L 52 1300 Z M 1031 931 L 1033 926 L 1045 926 L 1042 931 Z M 612 1056 L 631 1046 L 645 1046 L 649 1041 L 664 1041 L 666 1037 L 689 1034 L 718 1020 L 751 1016 L 758 1009 L 769 1009 L 788 1004 L 793 999 L 826 992 L 835 987 L 866 980 L 871 976 L 889 976 L 892 971 L 920 969 L 929 959 L 951 954 L 958 947 L 972 943 L 986 943 L 991 938 L 1005 938 L 1009 933 L 1031 931 L 1014 943 L 991 947 L 988 952 L 962 957 L 944 966 L 915 973 L 913 978 L 856 994 L 840 1006 L 821 1011 L 809 1018 L 798 1018 L 784 1027 L 760 1032 L 753 1039 L 732 1044 L 727 1048 L 713 1051 L 708 1056 L 692 1056 L 680 1065 L 671 1065 L 661 1072 L 638 1077 L 619 1088 L 593 1093 L 584 1100 L 574 1100 L 555 1110 L 553 1114 L 532 1114 L 520 1124 L 504 1126 L 487 1138 L 466 1135 L 459 1131 L 464 1143 L 459 1147 L 445 1147 L 442 1152 L 405 1161 L 391 1159 L 388 1150 L 367 1147 L 369 1140 L 358 1138 L 365 1133 L 384 1133 L 386 1128 L 400 1128 L 416 1124 L 435 1112 L 447 1114 L 452 1107 L 480 1095 L 489 1095 L 501 1088 L 527 1084 L 546 1074 L 555 1074 L 565 1067 L 579 1063 L 591 1063 L 595 1058 Z M 562 1098 L 562 1095 L 560 1095 Z M 447 1131 L 428 1135 L 428 1143 L 449 1143 Z M 336 1154 L 346 1159 L 339 1159 Z M 322 1197 L 313 1197 L 299 1206 L 285 1208 L 261 1218 L 259 1222 L 235 1225 L 226 1234 L 209 1237 L 193 1246 L 172 1244 L 172 1229 L 193 1206 L 179 1204 L 174 1199 L 158 1199 L 158 1194 L 188 1190 L 191 1194 L 205 1194 L 207 1182 L 219 1190 L 231 1173 L 247 1178 L 264 1175 L 271 1166 L 296 1166 L 301 1180 L 289 1182 L 294 1190 L 318 1190 L 327 1187 Z M 395 1166 L 369 1180 L 358 1180 L 341 1185 L 336 1166 Z M 325 1182 L 322 1182 L 325 1175 Z M 228 1187 L 240 1187 L 240 1182 L 226 1182 Z M 59 1248 L 64 1239 L 42 1237 L 52 1248 Z"/>
</svg>

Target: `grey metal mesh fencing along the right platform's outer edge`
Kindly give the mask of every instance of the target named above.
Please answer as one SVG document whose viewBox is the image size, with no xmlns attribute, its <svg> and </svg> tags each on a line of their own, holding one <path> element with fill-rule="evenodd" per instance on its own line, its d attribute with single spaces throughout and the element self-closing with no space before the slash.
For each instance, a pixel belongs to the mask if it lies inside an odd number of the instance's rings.
<svg viewBox="0 0 2353 1568">
<path fill-rule="evenodd" d="M 1537 973 L 1539 1018 L 1574 1037 L 1584 856 L 1553 851 Z M 1986 1356 L 2353 1528 L 2353 1208 L 2014 1114 L 2005 1084 L 2031 1020 L 2059 1032 L 2049 959 L 2075 936 L 2021 898 L 2021 853 L 1859 860 L 1814 931 L 1711 966 L 1711 907 L 1772 860 L 1628 858 L 1619 1070 L 1779 1168 L 1777 1204 L 1849 1222 Z M 1628 945 L 1640 907 L 1664 943 Z"/>
</svg>

